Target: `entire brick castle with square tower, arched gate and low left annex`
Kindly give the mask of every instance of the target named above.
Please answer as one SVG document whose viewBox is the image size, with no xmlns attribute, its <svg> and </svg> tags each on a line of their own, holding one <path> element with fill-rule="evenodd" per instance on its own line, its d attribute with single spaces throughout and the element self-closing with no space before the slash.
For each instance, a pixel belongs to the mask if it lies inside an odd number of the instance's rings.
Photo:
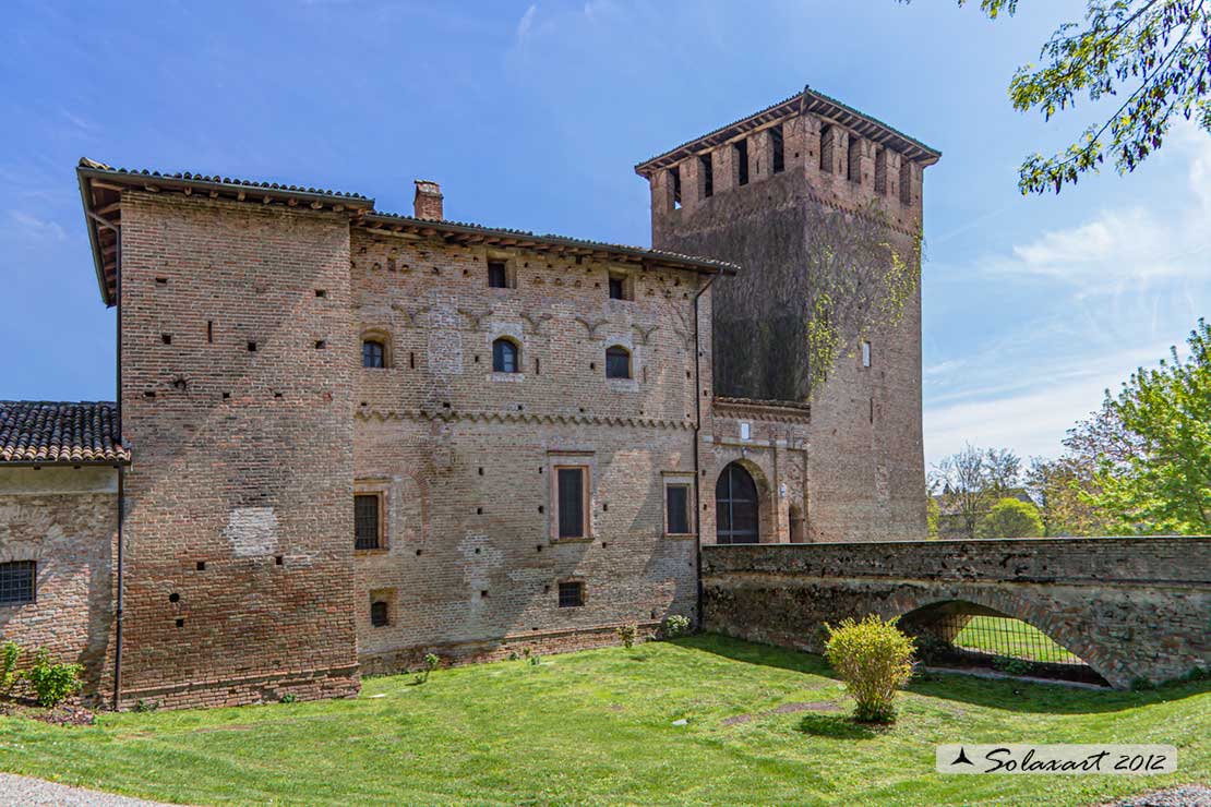
<svg viewBox="0 0 1211 807">
<path fill-rule="evenodd" d="M 696 619 L 700 543 L 923 536 L 919 292 L 815 390 L 803 329 L 939 156 L 804 88 L 636 167 L 650 249 L 82 160 L 117 399 L 0 404 L 0 633 L 117 707 L 342 697 Z"/>
</svg>

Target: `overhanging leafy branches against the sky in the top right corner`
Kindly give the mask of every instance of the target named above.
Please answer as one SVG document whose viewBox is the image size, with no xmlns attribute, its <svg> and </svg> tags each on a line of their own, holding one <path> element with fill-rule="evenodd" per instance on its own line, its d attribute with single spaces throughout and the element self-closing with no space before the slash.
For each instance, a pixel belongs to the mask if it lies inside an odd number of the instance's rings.
<svg viewBox="0 0 1211 807">
<path fill-rule="evenodd" d="M 909 0 L 901 0 L 908 2 Z M 971 0 L 958 0 L 960 6 Z M 980 0 L 989 18 L 1018 0 Z M 1211 132 L 1211 7 L 1206 0 L 1086 0 L 1080 23 L 1060 25 L 1043 46 L 1041 67 L 1018 68 L 1009 97 L 1018 111 L 1045 120 L 1109 98 L 1121 103 L 1066 150 L 1022 163 L 1018 188 L 1039 194 L 1075 184 L 1109 156 L 1119 173 L 1160 149 L 1175 115 Z"/>
</svg>

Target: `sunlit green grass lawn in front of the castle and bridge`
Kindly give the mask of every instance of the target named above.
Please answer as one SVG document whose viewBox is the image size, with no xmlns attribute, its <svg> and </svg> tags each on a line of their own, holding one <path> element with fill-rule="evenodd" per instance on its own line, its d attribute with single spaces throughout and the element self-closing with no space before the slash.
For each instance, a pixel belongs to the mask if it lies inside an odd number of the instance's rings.
<svg viewBox="0 0 1211 807">
<path fill-rule="evenodd" d="M 1079 805 L 1211 779 L 1205 682 L 1109 692 L 939 675 L 874 730 L 848 720 L 819 657 L 710 635 L 411 681 L 84 728 L 0 717 L 0 769 L 195 805 Z M 1170 743 L 1178 773 L 941 777 L 934 745 L 951 742 Z"/>
</svg>

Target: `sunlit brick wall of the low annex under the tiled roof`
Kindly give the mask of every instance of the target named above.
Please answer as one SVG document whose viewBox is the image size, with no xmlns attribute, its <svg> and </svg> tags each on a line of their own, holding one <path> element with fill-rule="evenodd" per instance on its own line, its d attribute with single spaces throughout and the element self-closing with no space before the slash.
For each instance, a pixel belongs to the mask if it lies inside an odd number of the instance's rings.
<svg viewBox="0 0 1211 807">
<path fill-rule="evenodd" d="M 0 563 L 36 563 L 36 601 L 0 605 L 0 640 L 45 647 L 84 664 L 85 694 L 97 696 L 113 629 L 117 536 L 114 468 L 0 468 Z"/>
</svg>

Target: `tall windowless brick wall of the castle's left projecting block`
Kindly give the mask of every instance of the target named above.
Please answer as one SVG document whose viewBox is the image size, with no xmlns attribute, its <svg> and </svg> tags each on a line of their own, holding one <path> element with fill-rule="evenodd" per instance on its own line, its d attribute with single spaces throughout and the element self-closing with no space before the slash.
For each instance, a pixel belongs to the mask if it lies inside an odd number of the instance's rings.
<svg viewBox="0 0 1211 807">
<path fill-rule="evenodd" d="M 124 702 L 356 691 L 350 304 L 345 217 L 124 194 Z"/>
</svg>

